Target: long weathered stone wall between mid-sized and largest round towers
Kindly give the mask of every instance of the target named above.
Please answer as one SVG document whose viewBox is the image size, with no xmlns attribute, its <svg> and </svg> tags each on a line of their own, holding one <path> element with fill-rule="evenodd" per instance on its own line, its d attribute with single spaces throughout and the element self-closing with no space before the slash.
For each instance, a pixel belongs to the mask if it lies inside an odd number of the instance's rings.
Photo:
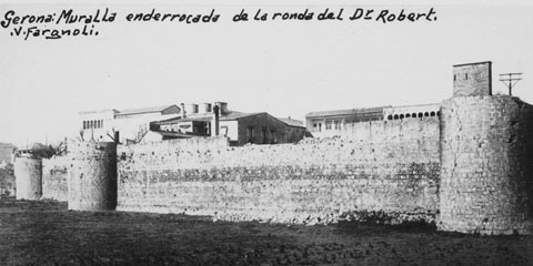
<svg viewBox="0 0 533 266">
<path fill-rule="evenodd" d="M 312 224 L 369 212 L 431 222 L 439 207 L 439 117 L 359 123 L 299 144 L 191 139 L 118 155 L 119 211 Z"/>
</svg>

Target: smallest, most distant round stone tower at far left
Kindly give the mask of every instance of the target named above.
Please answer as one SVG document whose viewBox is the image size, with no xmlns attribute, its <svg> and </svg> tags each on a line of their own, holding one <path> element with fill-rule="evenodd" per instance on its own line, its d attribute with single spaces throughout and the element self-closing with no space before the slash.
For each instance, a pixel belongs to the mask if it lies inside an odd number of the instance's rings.
<svg viewBox="0 0 533 266">
<path fill-rule="evenodd" d="M 42 160 L 16 157 L 17 200 L 39 200 L 42 196 Z"/>
</svg>

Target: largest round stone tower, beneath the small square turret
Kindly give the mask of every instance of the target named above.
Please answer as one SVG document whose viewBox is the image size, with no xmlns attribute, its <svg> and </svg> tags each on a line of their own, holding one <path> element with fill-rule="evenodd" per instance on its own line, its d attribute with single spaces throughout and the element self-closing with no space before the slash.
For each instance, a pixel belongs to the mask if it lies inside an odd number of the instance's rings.
<svg viewBox="0 0 533 266">
<path fill-rule="evenodd" d="M 441 121 L 439 228 L 531 233 L 533 106 L 507 95 L 453 98 Z"/>
</svg>

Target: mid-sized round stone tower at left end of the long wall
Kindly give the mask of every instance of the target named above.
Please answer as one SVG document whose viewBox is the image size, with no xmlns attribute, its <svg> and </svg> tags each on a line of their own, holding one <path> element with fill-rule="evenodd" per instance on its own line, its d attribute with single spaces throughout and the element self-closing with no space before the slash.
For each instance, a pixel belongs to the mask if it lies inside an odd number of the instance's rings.
<svg viewBox="0 0 533 266">
<path fill-rule="evenodd" d="M 107 211 L 117 207 L 117 144 L 69 143 L 69 209 Z"/>
</svg>

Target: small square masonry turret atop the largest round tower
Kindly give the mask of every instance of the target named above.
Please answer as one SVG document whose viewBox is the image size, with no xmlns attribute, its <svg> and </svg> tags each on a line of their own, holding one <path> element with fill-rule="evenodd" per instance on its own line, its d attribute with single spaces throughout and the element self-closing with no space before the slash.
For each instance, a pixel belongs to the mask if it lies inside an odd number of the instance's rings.
<svg viewBox="0 0 533 266">
<path fill-rule="evenodd" d="M 453 96 L 492 95 L 492 62 L 453 65 Z"/>
</svg>

